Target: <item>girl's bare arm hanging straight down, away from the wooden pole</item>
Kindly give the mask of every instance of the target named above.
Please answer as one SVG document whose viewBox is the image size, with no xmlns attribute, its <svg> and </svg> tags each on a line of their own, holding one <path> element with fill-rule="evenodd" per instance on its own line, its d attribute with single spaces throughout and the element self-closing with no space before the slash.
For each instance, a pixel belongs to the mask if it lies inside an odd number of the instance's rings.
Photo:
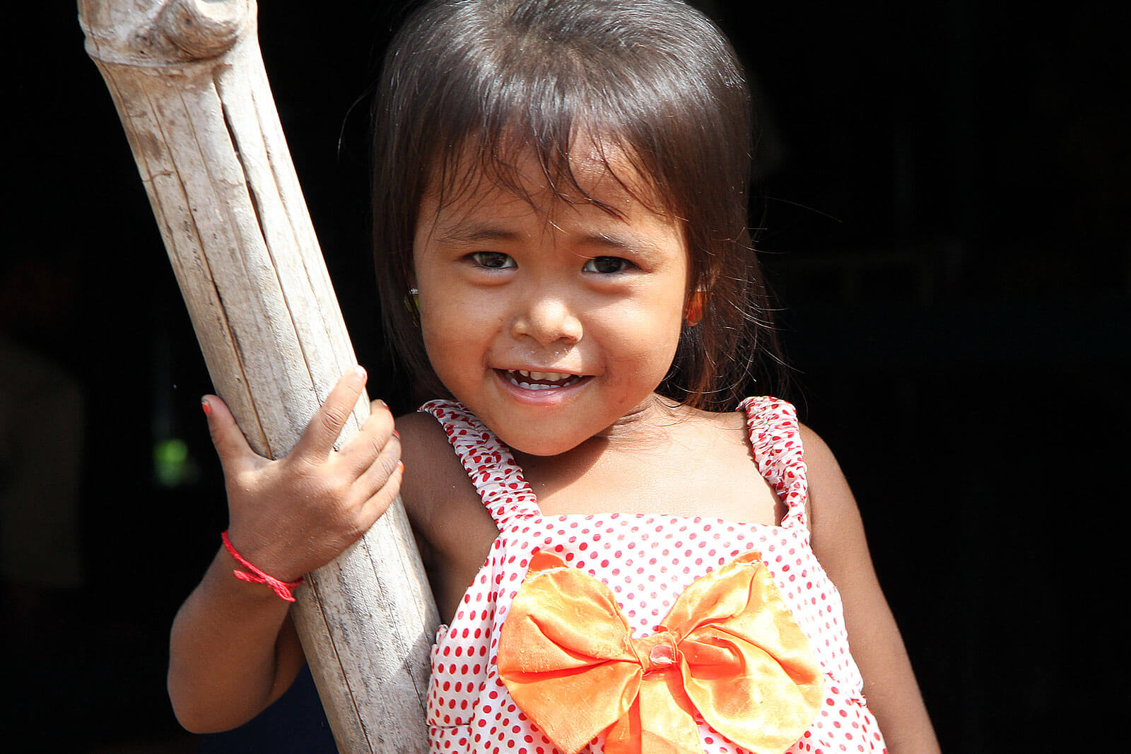
<svg viewBox="0 0 1131 754">
<path fill-rule="evenodd" d="M 907 650 L 872 567 L 856 500 L 824 441 L 802 427 L 802 444 L 813 552 L 844 600 L 845 627 L 864 676 L 867 707 L 892 754 L 938 752 Z"/>
</svg>

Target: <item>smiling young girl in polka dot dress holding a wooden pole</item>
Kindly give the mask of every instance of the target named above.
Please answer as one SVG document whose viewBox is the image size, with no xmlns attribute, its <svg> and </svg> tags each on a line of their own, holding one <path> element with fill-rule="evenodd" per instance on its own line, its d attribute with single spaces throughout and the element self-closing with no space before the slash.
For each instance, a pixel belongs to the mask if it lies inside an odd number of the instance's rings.
<svg viewBox="0 0 1131 754">
<path fill-rule="evenodd" d="M 448 622 L 433 751 L 936 751 L 836 461 L 788 404 L 742 400 L 774 358 L 750 130 L 733 51 L 677 0 L 407 21 L 375 111 L 378 277 L 439 399 L 399 435 L 374 401 L 334 451 L 359 370 L 267 461 L 205 398 L 231 549 L 173 626 L 185 727 L 250 719 L 303 662 L 287 588 L 233 578 L 234 553 L 293 582 L 399 489 Z"/>
</svg>

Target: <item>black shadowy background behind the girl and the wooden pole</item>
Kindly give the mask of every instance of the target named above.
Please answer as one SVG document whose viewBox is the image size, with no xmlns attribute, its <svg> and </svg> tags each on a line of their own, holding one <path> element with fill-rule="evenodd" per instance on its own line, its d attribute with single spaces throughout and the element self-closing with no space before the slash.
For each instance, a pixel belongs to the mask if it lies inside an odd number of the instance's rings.
<svg viewBox="0 0 1131 754">
<path fill-rule="evenodd" d="M 751 222 L 784 306 L 788 397 L 853 484 L 943 748 L 1105 747 L 1125 667 L 1125 18 L 1081 2 L 703 5 L 756 86 Z M 398 12 L 294 7 L 261 8 L 267 70 L 371 393 L 395 400 L 363 97 Z M 313 751 L 326 734 L 301 688 L 245 731 L 258 744 L 197 742 L 169 709 L 169 625 L 225 527 L 199 408 L 211 388 L 74 5 L 17 11 L 8 36 L 0 337 L 78 389 L 53 431 L 84 451 L 80 583 L 3 574 L 0 747 Z M 3 416 L 27 407 L 0 389 Z M 5 483 L 31 432 L 0 431 Z M 291 748 L 264 743 L 280 730 Z"/>
</svg>

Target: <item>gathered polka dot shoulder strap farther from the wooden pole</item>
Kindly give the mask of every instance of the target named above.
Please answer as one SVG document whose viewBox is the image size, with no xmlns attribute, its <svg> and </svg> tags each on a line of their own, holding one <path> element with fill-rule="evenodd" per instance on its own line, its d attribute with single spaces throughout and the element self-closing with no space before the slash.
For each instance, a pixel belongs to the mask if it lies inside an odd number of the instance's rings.
<svg viewBox="0 0 1131 754">
<path fill-rule="evenodd" d="M 739 410 L 746 413 L 746 428 L 758 470 L 786 505 L 782 526 L 808 529 L 809 483 L 797 409 L 785 400 L 758 396 L 739 404 Z"/>
</svg>

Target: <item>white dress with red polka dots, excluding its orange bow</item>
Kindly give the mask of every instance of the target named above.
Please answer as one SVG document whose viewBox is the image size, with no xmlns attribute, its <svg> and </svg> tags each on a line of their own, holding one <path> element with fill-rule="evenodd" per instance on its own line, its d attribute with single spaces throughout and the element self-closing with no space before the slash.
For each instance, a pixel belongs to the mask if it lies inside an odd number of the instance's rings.
<svg viewBox="0 0 1131 754">
<path fill-rule="evenodd" d="M 655 514 L 544 517 L 510 449 L 482 422 L 455 401 L 434 400 L 421 410 L 443 425 L 499 527 L 451 625 L 440 626 L 432 647 L 431 752 L 558 751 L 518 709 L 495 668 L 499 631 L 537 549 L 603 581 L 636 636 L 653 633 L 692 581 L 757 549 L 824 670 L 824 704 L 787 751 L 887 751 L 848 653 L 840 595 L 809 545 L 805 463 L 793 406 L 775 398 L 748 398 L 740 406 L 746 411 L 754 461 L 787 506 L 780 526 Z M 698 721 L 706 754 L 745 751 Z M 603 752 L 603 738 L 582 751 Z"/>
</svg>

